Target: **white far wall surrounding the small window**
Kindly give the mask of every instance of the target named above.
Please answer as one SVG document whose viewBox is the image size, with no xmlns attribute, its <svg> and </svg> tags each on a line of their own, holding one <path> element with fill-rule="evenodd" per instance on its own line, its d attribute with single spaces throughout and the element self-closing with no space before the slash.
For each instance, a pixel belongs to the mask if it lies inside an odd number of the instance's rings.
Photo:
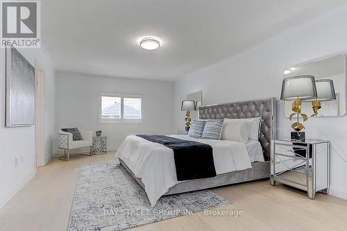
<svg viewBox="0 0 347 231">
<path fill-rule="evenodd" d="M 56 76 L 57 132 L 69 127 L 102 130 L 113 151 L 130 134 L 174 132 L 174 83 L 65 72 Z M 143 123 L 100 123 L 100 93 L 142 95 Z"/>
</svg>

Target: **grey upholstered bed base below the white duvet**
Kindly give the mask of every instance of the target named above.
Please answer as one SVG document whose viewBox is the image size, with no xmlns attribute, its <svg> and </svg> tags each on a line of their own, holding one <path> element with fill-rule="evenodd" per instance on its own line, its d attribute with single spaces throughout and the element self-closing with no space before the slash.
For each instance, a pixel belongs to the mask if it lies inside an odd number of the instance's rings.
<svg viewBox="0 0 347 231">
<path fill-rule="evenodd" d="M 133 171 L 131 171 L 123 160 L 119 159 L 121 165 L 133 176 L 133 178 L 139 182 L 144 188 L 141 178 L 135 177 Z M 260 180 L 270 178 L 270 161 L 265 162 L 253 162 L 251 163 L 251 169 L 245 169 L 242 171 L 232 171 L 230 173 L 223 173 L 215 176 L 214 178 L 203 178 L 198 180 L 186 180 L 178 182 L 178 184 L 169 188 L 164 195 L 180 194 L 187 191 L 196 191 L 201 189 L 210 189 L 214 187 L 221 187 L 225 185 L 232 185 L 241 182 L 247 182 L 251 180 Z"/>
</svg>

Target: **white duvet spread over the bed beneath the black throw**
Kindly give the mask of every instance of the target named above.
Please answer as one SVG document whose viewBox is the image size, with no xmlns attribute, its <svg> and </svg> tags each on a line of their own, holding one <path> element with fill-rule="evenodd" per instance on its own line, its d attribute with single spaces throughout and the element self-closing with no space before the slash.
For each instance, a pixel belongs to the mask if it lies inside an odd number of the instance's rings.
<svg viewBox="0 0 347 231">
<path fill-rule="evenodd" d="M 212 146 L 217 174 L 252 167 L 245 144 L 228 140 L 194 139 L 186 135 L 170 137 L 194 140 Z M 116 156 L 126 163 L 137 178 L 142 179 L 152 206 L 170 187 L 178 183 L 174 151 L 162 144 L 129 135 L 118 148 Z"/>
</svg>

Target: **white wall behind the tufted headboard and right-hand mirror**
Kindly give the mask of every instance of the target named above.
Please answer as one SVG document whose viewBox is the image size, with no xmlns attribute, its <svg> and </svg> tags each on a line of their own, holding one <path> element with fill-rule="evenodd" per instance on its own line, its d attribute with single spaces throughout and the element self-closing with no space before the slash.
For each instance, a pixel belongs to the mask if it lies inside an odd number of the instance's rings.
<svg viewBox="0 0 347 231">
<path fill-rule="evenodd" d="M 247 51 L 185 76 L 175 85 L 176 128 L 183 129 L 178 110 L 187 94 L 203 91 L 203 104 L 280 97 L 286 67 L 347 50 L 347 8 L 339 8 Z M 347 199 L 347 117 L 314 118 L 305 122 L 307 137 L 332 144 L 330 194 Z M 288 137 L 290 121 L 278 102 L 278 136 Z"/>
</svg>

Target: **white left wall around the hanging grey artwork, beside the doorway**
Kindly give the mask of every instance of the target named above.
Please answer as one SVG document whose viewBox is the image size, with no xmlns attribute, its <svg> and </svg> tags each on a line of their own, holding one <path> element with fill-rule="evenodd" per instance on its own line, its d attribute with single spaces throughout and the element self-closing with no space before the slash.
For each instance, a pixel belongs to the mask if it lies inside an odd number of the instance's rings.
<svg viewBox="0 0 347 231">
<path fill-rule="evenodd" d="M 43 46 L 42 46 L 43 47 Z M 45 129 L 44 160 L 52 156 L 52 138 L 54 132 L 54 79 L 55 71 L 51 58 L 45 49 L 18 49 L 35 67 L 35 62 L 45 72 Z M 6 73 L 5 49 L 0 49 L 0 207 L 12 198 L 19 189 L 35 176 L 35 126 L 22 128 L 5 127 Z M 23 156 L 23 161 L 22 161 Z M 15 157 L 18 165 L 15 166 Z"/>
</svg>

